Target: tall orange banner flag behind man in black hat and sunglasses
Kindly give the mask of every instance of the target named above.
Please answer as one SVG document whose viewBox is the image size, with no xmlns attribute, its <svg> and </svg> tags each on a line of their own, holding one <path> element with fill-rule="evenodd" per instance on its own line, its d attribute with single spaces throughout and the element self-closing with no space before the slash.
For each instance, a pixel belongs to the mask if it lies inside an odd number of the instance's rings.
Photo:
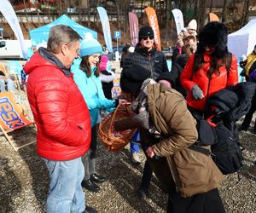
<svg viewBox="0 0 256 213">
<path fill-rule="evenodd" d="M 149 26 L 151 26 L 154 31 L 154 42 L 156 43 L 156 47 L 159 51 L 161 51 L 160 29 L 155 11 L 153 8 L 147 7 L 145 12 L 148 15 Z"/>
</svg>

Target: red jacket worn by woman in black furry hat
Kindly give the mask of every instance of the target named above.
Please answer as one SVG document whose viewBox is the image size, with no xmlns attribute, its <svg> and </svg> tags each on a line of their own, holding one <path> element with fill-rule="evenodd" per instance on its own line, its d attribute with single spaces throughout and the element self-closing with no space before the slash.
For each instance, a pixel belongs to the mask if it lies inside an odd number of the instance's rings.
<svg viewBox="0 0 256 213">
<path fill-rule="evenodd" d="M 189 92 L 187 96 L 187 102 L 189 107 L 197 110 L 204 111 L 206 107 L 206 101 L 211 96 L 217 93 L 220 89 L 224 89 L 230 85 L 236 85 L 238 83 L 238 72 L 237 72 L 237 60 L 236 56 L 232 55 L 230 72 L 227 74 L 226 66 L 220 66 L 220 74 L 212 74 L 212 78 L 207 78 L 207 71 L 210 68 L 211 57 L 210 55 L 204 55 L 205 63 L 197 72 L 193 73 L 195 54 L 189 57 L 186 66 L 180 76 L 180 83 L 184 89 Z M 205 96 L 201 100 L 194 100 L 192 97 L 191 89 L 197 84 L 203 91 Z"/>
</svg>

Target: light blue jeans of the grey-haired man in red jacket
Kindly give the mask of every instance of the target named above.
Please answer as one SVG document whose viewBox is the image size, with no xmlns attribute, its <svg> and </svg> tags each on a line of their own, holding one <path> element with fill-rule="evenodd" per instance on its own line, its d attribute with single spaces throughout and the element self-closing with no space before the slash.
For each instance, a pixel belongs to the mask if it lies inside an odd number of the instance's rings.
<svg viewBox="0 0 256 213">
<path fill-rule="evenodd" d="M 43 158 L 49 170 L 48 213 L 81 213 L 85 209 L 85 197 L 81 187 L 84 165 L 81 158 L 55 161 Z"/>
</svg>

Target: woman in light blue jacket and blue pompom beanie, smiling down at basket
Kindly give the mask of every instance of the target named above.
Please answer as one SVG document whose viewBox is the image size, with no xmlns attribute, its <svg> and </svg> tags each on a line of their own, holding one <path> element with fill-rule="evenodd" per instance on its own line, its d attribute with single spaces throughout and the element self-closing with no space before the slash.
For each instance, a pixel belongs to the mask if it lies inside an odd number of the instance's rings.
<svg viewBox="0 0 256 213">
<path fill-rule="evenodd" d="M 108 100 L 104 96 L 102 82 L 99 78 L 100 70 L 97 67 L 101 54 L 101 44 L 98 43 L 90 33 L 87 33 L 80 45 L 81 59 L 75 60 L 71 67 L 73 79 L 84 96 L 84 101 L 90 111 L 90 150 L 85 153 L 82 158 L 84 164 L 84 180 L 82 181 L 82 187 L 85 187 L 90 192 L 98 192 L 100 187 L 96 185 L 96 182 L 101 183 L 105 181 L 105 177 L 97 175 L 95 171 L 97 147 L 96 122 L 99 110 L 114 108 L 119 104 L 118 100 Z"/>
</svg>

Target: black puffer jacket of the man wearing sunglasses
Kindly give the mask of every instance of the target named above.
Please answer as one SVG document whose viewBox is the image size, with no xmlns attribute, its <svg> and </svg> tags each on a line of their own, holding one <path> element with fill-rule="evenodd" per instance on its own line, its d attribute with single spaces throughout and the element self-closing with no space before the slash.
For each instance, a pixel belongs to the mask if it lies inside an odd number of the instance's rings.
<svg viewBox="0 0 256 213">
<path fill-rule="evenodd" d="M 129 55 L 123 64 L 123 69 L 129 69 L 131 66 L 143 66 L 151 72 L 151 78 L 156 79 L 162 72 L 169 72 L 166 56 L 156 48 L 148 49 L 141 48 L 139 43 L 136 46 L 134 53 Z"/>
</svg>

